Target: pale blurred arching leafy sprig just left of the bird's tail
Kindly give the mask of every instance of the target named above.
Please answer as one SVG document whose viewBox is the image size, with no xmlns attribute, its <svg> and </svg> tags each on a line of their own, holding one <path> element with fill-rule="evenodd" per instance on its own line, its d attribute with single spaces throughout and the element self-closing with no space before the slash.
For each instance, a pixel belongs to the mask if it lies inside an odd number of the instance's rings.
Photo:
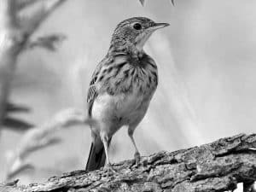
<svg viewBox="0 0 256 192">
<path fill-rule="evenodd" d="M 32 169 L 32 163 L 26 160 L 27 156 L 39 149 L 42 150 L 42 148 L 60 143 L 61 138 L 54 137 L 54 132 L 78 124 L 95 125 L 95 122 L 93 119 L 86 119 L 84 111 L 69 108 L 55 114 L 44 125 L 26 131 L 16 148 L 13 151 L 9 151 L 9 165 L 7 166 L 6 177 L 12 178 L 26 169 Z"/>
</svg>

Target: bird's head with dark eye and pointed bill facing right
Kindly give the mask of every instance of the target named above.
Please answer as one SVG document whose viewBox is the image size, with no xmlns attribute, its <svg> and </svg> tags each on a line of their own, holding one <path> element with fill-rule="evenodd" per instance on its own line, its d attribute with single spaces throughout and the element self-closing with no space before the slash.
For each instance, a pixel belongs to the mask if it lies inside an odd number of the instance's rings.
<svg viewBox="0 0 256 192">
<path fill-rule="evenodd" d="M 169 24 L 156 23 L 146 17 L 123 20 L 115 28 L 111 44 L 114 46 L 133 46 L 141 50 L 153 32 L 166 26 Z"/>
</svg>

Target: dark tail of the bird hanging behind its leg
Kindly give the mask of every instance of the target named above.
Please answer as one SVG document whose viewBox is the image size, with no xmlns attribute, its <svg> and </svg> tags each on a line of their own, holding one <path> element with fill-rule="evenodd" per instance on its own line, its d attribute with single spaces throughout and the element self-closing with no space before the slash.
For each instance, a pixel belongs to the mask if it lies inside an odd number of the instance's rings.
<svg viewBox="0 0 256 192">
<path fill-rule="evenodd" d="M 109 138 L 108 146 L 110 142 L 111 142 L 111 137 Z M 105 165 L 105 161 L 106 161 L 106 154 L 105 154 L 104 145 L 102 141 L 91 143 L 90 154 L 87 160 L 85 171 L 90 172 L 96 169 L 100 169 L 102 166 Z"/>
</svg>

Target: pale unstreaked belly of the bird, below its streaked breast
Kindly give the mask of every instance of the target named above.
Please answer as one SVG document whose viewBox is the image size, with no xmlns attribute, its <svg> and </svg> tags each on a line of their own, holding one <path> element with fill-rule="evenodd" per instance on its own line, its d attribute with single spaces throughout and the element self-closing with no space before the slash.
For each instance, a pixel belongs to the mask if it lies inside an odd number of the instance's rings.
<svg viewBox="0 0 256 192">
<path fill-rule="evenodd" d="M 122 125 L 132 125 L 143 119 L 150 99 L 151 96 L 137 92 L 116 96 L 104 93 L 93 104 L 92 118 L 100 123 L 100 129 L 110 129 L 108 132 L 113 134 Z"/>
</svg>

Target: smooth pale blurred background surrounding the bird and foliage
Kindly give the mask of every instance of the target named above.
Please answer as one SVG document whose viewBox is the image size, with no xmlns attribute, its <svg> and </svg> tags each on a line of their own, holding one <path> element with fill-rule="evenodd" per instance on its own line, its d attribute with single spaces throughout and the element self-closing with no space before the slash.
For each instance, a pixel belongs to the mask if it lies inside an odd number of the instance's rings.
<svg viewBox="0 0 256 192">
<path fill-rule="evenodd" d="M 32 49 L 20 55 L 10 101 L 31 108 L 20 113 L 42 125 L 65 108 L 86 109 L 87 89 L 96 64 L 108 51 L 115 26 L 147 16 L 171 26 L 155 32 L 145 51 L 159 67 L 159 87 L 135 131 L 141 154 L 177 150 L 219 137 L 255 132 L 256 2 L 252 0 L 73 0 L 56 9 L 33 38 L 61 32 L 67 39 L 55 52 Z M 3 129 L 0 181 L 9 156 L 25 131 Z M 53 132 L 60 143 L 27 157 L 33 169 L 15 177 L 38 183 L 53 175 L 84 169 L 90 149 L 88 125 Z M 134 149 L 121 129 L 113 137 L 111 160 L 131 159 Z"/>
</svg>

